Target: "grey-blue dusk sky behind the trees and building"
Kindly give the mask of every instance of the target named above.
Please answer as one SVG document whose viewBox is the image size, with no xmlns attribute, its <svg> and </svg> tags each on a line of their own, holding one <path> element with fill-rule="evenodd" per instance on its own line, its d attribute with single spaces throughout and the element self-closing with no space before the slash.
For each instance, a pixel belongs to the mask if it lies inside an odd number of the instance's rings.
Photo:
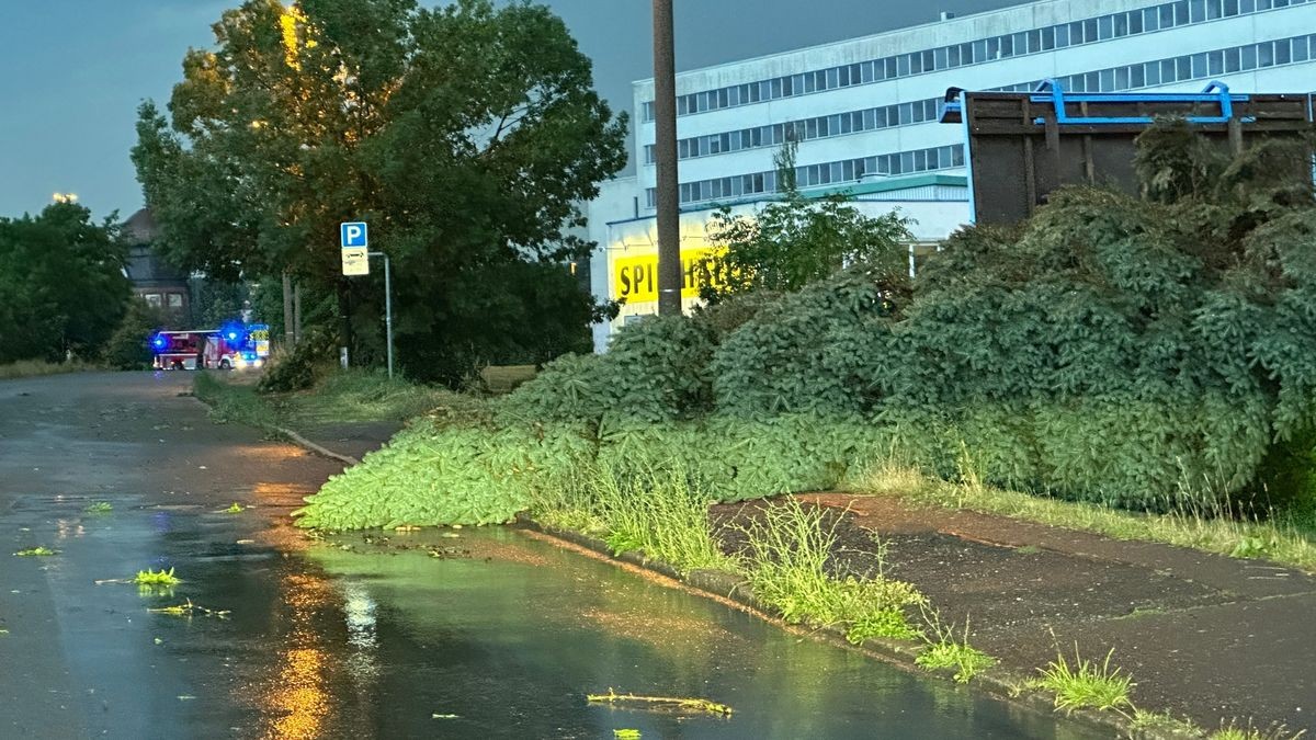
<svg viewBox="0 0 1316 740">
<path fill-rule="evenodd" d="M 675 0 L 679 70 L 786 51 L 1021 0 Z M 190 46 L 238 0 L 57 0 L 5 5 L 0 22 L 0 216 L 76 192 L 100 217 L 141 207 L 128 158 L 137 105 L 167 103 Z M 651 76 L 649 0 L 547 0 L 595 61 L 596 84 L 628 109 Z"/>
</svg>

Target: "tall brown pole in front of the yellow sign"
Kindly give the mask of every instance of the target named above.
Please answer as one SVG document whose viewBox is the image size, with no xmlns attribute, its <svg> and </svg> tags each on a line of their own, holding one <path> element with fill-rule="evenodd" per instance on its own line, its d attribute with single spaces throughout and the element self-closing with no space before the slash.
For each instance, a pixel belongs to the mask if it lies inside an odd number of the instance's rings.
<svg viewBox="0 0 1316 740">
<path fill-rule="evenodd" d="M 676 53 L 672 0 L 654 0 L 654 159 L 658 166 L 658 313 L 680 315 L 680 201 L 676 183 Z"/>
</svg>

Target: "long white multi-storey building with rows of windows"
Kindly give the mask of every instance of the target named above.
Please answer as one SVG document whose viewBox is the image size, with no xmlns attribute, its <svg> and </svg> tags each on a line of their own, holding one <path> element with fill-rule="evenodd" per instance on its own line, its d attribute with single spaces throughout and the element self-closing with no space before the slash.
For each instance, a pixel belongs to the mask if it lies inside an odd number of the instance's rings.
<svg viewBox="0 0 1316 740">
<path fill-rule="evenodd" d="M 683 250 L 721 204 L 753 212 L 776 191 L 774 154 L 799 141 L 803 191 L 849 190 L 866 212 L 899 208 L 937 241 L 969 220 L 963 129 L 938 124 L 948 88 L 1188 92 L 1316 90 L 1316 0 L 1044 0 L 676 76 Z M 591 203 L 595 292 L 624 298 L 654 253 L 653 80 L 634 83 L 637 175 Z M 629 262 L 626 262 L 629 259 Z M 624 274 L 621 266 L 632 269 Z M 641 270 L 641 277 L 644 271 Z M 599 349 L 657 303 L 632 292 Z M 634 319 L 630 319 L 634 320 Z"/>
</svg>

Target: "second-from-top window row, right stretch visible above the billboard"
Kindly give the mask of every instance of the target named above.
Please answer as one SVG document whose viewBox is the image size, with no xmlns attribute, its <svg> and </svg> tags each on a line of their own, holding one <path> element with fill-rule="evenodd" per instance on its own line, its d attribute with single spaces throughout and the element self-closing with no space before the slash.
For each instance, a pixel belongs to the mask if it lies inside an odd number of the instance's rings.
<svg viewBox="0 0 1316 740">
<path fill-rule="evenodd" d="M 1113 92 L 1209 79 L 1279 65 L 1295 65 L 1312 59 L 1316 59 L 1316 34 L 1248 43 L 1246 46 L 1187 54 L 1141 65 L 1109 67 L 1095 72 L 1058 78 L 1058 82 L 1066 92 Z M 998 90 L 1026 92 L 1037 90 L 1038 84 L 1041 84 L 1041 80 L 1012 84 Z"/>
</svg>

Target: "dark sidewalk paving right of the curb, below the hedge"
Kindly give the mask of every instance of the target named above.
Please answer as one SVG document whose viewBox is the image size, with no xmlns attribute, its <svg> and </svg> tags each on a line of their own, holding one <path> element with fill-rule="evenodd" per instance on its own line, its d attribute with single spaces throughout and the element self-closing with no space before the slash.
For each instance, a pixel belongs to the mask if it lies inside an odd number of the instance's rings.
<svg viewBox="0 0 1316 740">
<path fill-rule="evenodd" d="M 1133 702 L 1205 729 L 1252 722 L 1316 733 L 1316 578 L 1213 556 L 892 496 L 815 494 L 849 508 L 838 529 L 851 570 L 915 583 L 944 623 L 1003 665 L 1032 670 L 1075 643 L 1137 687 Z"/>
</svg>

